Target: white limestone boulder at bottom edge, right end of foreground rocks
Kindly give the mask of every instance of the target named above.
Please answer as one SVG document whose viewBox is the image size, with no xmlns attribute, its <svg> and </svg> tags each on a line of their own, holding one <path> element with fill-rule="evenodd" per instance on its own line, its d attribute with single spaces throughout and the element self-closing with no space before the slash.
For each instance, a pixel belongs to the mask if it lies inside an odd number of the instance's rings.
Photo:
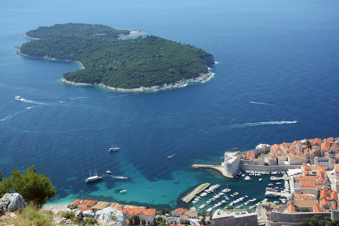
<svg viewBox="0 0 339 226">
<path fill-rule="evenodd" d="M 102 226 L 127 226 L 125 216 L 121 211 L 113 207 L 98 210 L 95 216 L 97 221 L 102 223 Z"/>
</svg>

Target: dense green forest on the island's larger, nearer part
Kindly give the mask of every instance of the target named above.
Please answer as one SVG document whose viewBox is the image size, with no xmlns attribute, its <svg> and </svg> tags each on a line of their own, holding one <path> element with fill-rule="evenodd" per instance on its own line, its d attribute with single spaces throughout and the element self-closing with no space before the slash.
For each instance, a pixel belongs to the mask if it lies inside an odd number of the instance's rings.
<svg viewBox="0 0 339 226">
<path fill-rule="evenodd" d="M 70 34 L 71 29 L 67 30 L 66 34 Z M 213 56 L 201 49 L 156 36 L 118 40 L 57 35 L 24 43 L 20 51 L 29 56 L 80 61 L 85 69 L 64 73 L 68 81 L 124 89 L 195 78 L 207 72 L 206 63 L 214 63 Z"/>
</svg>

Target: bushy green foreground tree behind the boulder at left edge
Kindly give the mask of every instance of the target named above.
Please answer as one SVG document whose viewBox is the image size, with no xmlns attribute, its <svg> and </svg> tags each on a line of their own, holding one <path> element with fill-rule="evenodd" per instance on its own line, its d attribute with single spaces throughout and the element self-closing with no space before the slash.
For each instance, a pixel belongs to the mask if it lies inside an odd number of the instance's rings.
<svg viewBox="0 0 339 226">
<path fill-rule="evenodd" d="M 45 174 L 38 174 L 34 165 L 27 166 L 22 174 L 18 169 L 11 171 L 8 178 L 0 181 L 0 197 L 6 193 L 19 193 L 26 203 L 32 203 L 39 208 L 57 193 L 52 182 Z M 0 179 L 1 172 L 0 172 Z"/>
</svg>

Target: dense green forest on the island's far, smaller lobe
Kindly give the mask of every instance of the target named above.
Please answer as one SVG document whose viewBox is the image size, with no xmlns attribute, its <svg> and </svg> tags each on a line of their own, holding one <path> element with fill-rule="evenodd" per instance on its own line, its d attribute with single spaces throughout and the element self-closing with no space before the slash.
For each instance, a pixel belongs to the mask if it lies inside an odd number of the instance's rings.
<svg viewBox="0 0 339 226">
<path fill-rule="evenodd" d="M 65 23 L 54 24 L 50 27 L 38 27 L 35 30 L 26 32 L 26 35 L 32 38 L 51 38 L 92 36 L 102 33 L 107 38 L 118 38 L 120 34 L 128 35 L 130 32 L 128 30 L 117 30 L 101 24 Z"/>
</svg>

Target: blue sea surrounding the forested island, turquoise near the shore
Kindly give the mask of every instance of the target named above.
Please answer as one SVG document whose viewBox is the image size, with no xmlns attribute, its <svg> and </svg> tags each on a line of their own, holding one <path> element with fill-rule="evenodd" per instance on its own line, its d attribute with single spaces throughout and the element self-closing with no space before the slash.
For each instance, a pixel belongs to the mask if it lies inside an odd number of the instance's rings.
<svg viewBox="0 0 339 226">
<path fill-rule="evenodd" d="M 261 200 L 256 178 L 248 186 L 191 165 L 220 164 L 234 147 L 339 136 L 338 12 L 339 1 L 327 0 L 1 0 L 0 171 L 35 165 L 58 190 L 47 205 L 81 198 L 173 209 L 201 183 Z M 189 43 L 214 55 L 215 75 L 123 93 L 61 83 L 78 64 L 15 53 L 25 32 L 67 22 Z M 112 144 L 120 150 L 108 152 Z M 113 173 L 87 184 L 90 168 Z"/>
</svg>

